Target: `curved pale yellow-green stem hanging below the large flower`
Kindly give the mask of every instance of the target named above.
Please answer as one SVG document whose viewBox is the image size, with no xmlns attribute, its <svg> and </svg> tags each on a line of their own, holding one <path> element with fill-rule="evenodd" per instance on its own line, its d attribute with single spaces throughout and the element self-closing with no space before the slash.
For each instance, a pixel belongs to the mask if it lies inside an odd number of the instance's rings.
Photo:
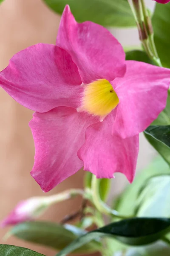
<svg viewBox="0 0 170 256">
<path fill-rule="evenodd" d="M 93 175 L 92 183 L 91 183 L 91 189 L 92 189 L 92 193 L 93 193 L 93 203 L 94 203 L 96 209 L 98 209 L 99 212 L 101 212 L 105 215 L 111 215 L 111 216 L 117 217 L 117 218 L 125 219 L 125 218 L 134 217 L 134 216 L 119 215 L 119 212 L 117 212 L 116 210 L 111 209 L 107 204 L 105 204 L 100 198 L 99 182 L 100 182 L 100 180 L 97 179 L 95 175 Z"/>
</svg>

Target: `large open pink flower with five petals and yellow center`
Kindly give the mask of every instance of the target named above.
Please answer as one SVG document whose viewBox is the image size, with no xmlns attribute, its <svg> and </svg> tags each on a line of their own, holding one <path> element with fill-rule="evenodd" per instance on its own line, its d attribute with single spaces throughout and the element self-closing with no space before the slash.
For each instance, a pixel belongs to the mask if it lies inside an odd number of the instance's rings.
<svg viewBox="0 0 170 256">
<path fill-rule="evenodd" d="M 48 192 L 82 166 L 98 178 L 122 172 L 132 182 L 139 133 L 165 108 L 170 70 L 125 61 L 107 29 L 77 23 L 66 6 L 57 45 L 18 52 L 0 84 L 36 111 L 31 175 Z"/>
</svg>

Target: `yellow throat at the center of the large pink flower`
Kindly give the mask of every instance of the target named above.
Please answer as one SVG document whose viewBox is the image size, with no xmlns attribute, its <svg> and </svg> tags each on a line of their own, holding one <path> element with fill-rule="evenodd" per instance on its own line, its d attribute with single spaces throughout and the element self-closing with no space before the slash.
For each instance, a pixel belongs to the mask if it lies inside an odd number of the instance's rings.
<svg viewBox="0 0 170 256">
<path fill-rule="evenodd" d="M 119 103 L 112 85 L 106 79 L 99 79 L 85 85 L 80 110 L 100 117 L 108 115 Z"/>
</svg>

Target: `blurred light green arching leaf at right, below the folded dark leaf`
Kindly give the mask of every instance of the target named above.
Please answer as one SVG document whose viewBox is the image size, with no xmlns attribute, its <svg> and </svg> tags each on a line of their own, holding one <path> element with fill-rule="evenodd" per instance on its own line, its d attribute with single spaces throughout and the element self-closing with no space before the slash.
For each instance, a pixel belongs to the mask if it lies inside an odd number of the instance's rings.
<svg viewBox="0 0 170 256">
<path fill-rule="evenodd" d="M 163 143 L 161 144 L 164 145 Z M 161 157 L 157 157 L 147 168 L 136 175 L 133 183 L 128 185 L 127 189 L 120 195 L 119 201 L 114 209 L 122 215 L 134 215 L 136 213 L 136 201 L 139 192 L 147 180 L 150 177 L 168 174 L 170 174 L 169 166 Z"/>
</svg>

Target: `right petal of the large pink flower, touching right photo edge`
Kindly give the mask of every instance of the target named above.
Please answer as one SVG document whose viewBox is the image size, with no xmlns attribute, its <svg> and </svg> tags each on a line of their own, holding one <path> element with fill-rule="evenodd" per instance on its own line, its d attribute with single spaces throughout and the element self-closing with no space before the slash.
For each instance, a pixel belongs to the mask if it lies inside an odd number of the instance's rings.
<svg viewBox="0 0 170 256">
<path fill-rule="evenodd" d="M 123 78 L 111 82 L 119 98 L 113 133 L 122 138 L 144 131 L 165 108 L 170 69 L 126 61 Z"/>
</svg>

